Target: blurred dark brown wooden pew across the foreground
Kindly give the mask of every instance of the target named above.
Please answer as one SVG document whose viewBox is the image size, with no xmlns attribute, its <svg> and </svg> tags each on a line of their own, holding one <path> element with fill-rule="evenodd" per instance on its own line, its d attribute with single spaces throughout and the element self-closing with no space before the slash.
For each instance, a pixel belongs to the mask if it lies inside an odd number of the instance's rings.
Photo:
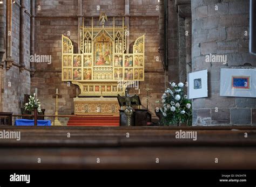
<svg viewBox="0 0 256 187">
<path fill-rule="evenodd" d="M 0 139 L 1 169 L 256 169 L 253 126 L 0 126 L 3 130 L 20 131 L 21 140 Z M 176 139 L 180 130 L 197 132 L 197 140 Z"/>
</svg>

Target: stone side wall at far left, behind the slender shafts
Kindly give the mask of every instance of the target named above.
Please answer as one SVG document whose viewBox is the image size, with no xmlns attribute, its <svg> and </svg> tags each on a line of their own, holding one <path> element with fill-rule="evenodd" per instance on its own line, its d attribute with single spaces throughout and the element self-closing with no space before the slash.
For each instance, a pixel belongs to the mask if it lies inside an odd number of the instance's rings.
<svg viewBox="0 0 256 187">
<path fill-rule="evenodd" d="M 19 4 L 19 1 L 16 1 Z M 4 1 L 4 31 L 6 34 L 6 1 Z M 19 6 L 12 4 L 12 59 L 14 65 L 9 70 L 3 68 L 1 77 L 3 80 L 2 111 L 21 114 L 24 105 L 24 94 L 30 93 L 30 73 L 28 70 L 20 71 L 19 64 Z M 30 12 L 30 3 L 25 3 L 25 10 Z M 30 17 L 25 15 L 25 65 L 30 68 Z M 5 36 L 4 34 L 4 36 Z M 4 40 L 6 42 L 6 40 Z M 4 44 L 4 49 L 6 45 Z M 6 50 L 5 50 L 6 51 Z M 5 55 L 4 59 L 5 60 Z"/>
</svg>

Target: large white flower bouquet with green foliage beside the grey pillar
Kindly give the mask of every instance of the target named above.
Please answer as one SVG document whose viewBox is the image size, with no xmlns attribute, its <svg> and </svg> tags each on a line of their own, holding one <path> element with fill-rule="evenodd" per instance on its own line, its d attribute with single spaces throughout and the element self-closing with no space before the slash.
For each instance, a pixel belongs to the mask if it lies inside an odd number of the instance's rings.
<svg viewBox="0 0 256 187">
<path fill-rule="evenodd" d="M 192 106 L 191 101 L 184 94 L 184 83 L 170 83 L 171 89 L 167 88 L 162 98 L 160 111 L 163 114 L 161 124 L 177 125 L 187 123 L 192 125 Z"/>
</svg>

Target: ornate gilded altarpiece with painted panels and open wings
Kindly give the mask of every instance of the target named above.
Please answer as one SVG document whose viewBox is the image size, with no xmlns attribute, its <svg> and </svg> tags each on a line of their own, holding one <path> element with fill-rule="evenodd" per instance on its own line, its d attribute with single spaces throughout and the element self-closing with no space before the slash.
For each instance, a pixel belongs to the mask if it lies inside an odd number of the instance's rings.
<svg viewBox="0 0 256 187">
<path fill-rule="evenodd" d="M 124 25 L 105 26 L 106 15 L 100 15 L 100 26 L 93 24 L 80 28 L 80 53 L 73 53 L 72 41 L 62 35 L 62 81 L 79 86 L 79 96 L 124 95 L 127 84 L 144 81 L 144 35 L 133 45 L 133 53 L 126 53 Z M 120 86 L 121 85 L 121 86 Z"/>
</svg>

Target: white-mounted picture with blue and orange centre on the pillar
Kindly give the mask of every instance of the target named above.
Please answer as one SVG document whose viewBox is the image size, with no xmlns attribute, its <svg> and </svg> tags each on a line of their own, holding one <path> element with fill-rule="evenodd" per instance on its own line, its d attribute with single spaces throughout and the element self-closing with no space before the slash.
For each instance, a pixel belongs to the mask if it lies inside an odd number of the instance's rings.
<svg viewBox="0 0 256 187">
<path fill-rule="evenodd" d="M 256 69 L 221 68 L 220 96 L 256 97 Z"/>
</svg>

